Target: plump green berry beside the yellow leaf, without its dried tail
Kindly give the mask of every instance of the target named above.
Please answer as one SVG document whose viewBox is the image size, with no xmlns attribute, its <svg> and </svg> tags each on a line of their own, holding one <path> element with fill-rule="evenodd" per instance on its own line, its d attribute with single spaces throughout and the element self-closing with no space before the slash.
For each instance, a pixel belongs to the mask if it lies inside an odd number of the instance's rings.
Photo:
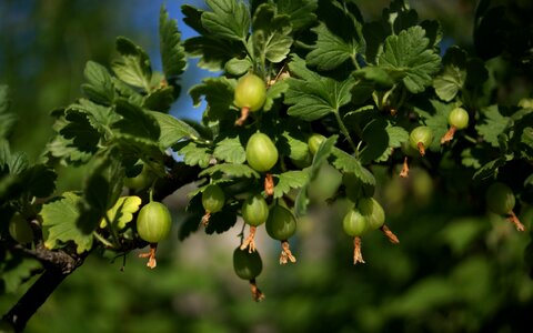
<svg viewBox="0 0 533 333">
<path fill-rule="evenodd" d="M 172 216 L 161 202 L 145 204 L 137 216 L 137 232 L 149 243 L 159 243 L 170 234 Z"/>
</svg>

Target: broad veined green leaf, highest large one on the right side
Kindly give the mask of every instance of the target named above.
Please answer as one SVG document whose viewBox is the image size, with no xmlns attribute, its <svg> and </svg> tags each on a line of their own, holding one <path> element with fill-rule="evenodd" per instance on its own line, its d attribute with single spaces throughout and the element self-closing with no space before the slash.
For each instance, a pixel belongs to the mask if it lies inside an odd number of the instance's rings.
<svg viewBox="0 0 533 333">
<path fill-rule="evenodd" d="M 403 82 L 412 93 L 424 91 L 432 83 L 432 75 L 439 71 L 441 58 L 430 47 L 421 27 L 402 30 L 385 40 L 384 51 L 378 64 L 392 77 Z"/>
</svg>

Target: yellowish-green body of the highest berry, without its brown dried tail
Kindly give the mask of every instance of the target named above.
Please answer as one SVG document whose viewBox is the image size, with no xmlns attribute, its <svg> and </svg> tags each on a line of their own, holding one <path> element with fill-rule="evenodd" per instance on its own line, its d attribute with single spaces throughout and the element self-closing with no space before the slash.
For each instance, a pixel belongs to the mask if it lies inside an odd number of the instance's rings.
<svg viewBox="0 0 533 333">
<path fill-rule="evenodd" d="M 252 73 L 239 79 L 235 87 L 234 104 L 239 108 L 249 108 L 250 111 L 258 111 L 266 100 L 266 85 L 264 81 Z"/>
</svg>

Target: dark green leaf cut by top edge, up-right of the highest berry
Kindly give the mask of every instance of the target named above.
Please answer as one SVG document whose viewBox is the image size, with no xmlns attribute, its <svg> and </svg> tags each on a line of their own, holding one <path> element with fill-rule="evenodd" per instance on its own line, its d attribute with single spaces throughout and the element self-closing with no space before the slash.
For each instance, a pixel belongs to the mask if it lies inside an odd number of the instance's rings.
<svg viewBox="0 0 533 333">
<path fill-rule="evenodd" d="M 293 30 L 300 30 L 316 21 L 316 0 L 278 0 L 275 6 L 278 13 L 289 16 Z"/>
</svg>

